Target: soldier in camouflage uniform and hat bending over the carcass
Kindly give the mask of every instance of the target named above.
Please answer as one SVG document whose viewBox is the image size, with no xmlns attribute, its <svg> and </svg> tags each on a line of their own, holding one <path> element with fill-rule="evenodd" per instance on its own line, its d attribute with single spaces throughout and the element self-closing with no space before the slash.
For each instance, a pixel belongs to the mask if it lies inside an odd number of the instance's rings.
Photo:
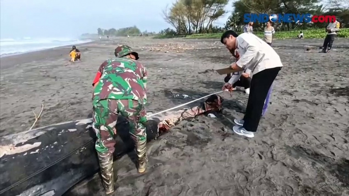
<svg viewBox="0 0 349 196">
<path fill-rule="evenodd" d="M 97 135 L 96 150 L 106 193 L 114 191 L 113 152 L 118 114 L 128 119 L 135 142 L 139 173 L 146 170 L 147 71 L 137 61 L 138 54 L 129 46 L 115 49 L 116 58 L 104 61 L 93 83 L 93 128 Z"/>
</svg>

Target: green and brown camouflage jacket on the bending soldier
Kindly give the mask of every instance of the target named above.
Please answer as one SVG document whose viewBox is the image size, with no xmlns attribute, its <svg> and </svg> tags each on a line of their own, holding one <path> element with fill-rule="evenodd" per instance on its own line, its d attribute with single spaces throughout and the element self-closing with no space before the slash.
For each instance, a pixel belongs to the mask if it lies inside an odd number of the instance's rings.
<svg viewBox="0 0 349 196">
<path fill-rule="evenodd" d="M 111 58 L 99 67 L 101 78 L 95 86 L 93 105 L 100 100 L 137 100 L 147 103 L 147 70 L 137 60 Z"/>
</svg>

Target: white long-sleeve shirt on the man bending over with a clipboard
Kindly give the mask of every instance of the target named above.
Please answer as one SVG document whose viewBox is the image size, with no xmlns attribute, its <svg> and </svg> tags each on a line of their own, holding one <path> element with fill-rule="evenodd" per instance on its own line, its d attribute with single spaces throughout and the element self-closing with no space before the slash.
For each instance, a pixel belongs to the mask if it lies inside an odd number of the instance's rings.
<svg viewBox="0 0 349 196">
<path fill-rule="evenodd" d="M 236 40 L 240 68 L 249 69 L 252 75 L 266 69 L 282 67 L 281 59 L 275 50 L 257 36 L 243 33 Z"/>
</svg>

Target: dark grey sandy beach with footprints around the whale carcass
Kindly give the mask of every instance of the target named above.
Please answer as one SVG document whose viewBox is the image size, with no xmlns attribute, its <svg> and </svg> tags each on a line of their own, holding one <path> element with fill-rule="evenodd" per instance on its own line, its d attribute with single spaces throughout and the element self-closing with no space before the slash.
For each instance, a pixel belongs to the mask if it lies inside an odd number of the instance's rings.
<svg viewBox="0 0 349 196">
<path fill-rule="evenodd" d="M 0 137 L 35 127 L 90 117 L 92 81 L 119 44 L 139 52 L 149 73 L 149 112 L 220 91 L 224 76 L 212 69 L 234 61 L 219 40 L 118 38 L 77 45 L 82 60 L 69 62 L 71 46 L 1 58 Z M 267 115 L 255 138 L 232 133 L 247 95 L 220 94 L 224 112 L 182 121 L 151 143 L 148 171 L 137 174 L 129 156 L 114 195 L 349 195 L 349 40 L 274 40 L 284 64 Z M 310 50 L 306 50 L 310 48 Z M 194 104 L 195 105 L 195 104 Z M 99 178 L 66 195 L 104 195 Z"/>
</svg>

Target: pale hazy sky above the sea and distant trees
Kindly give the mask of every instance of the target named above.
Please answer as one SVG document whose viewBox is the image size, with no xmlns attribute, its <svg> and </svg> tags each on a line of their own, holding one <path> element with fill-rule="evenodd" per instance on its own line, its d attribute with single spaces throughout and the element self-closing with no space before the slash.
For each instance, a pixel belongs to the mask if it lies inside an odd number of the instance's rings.
<svg viewBox="0 0 349 196">
<path fill-rule="evenodd" d="M 162 10 L 175 0 L 0 0 L 0 36 L 76 37 L 97 28 L 136 25 L 141 31 L 170 27 Z M 231 12 L 216 24 L 224 25 Z"/>
</svg>

